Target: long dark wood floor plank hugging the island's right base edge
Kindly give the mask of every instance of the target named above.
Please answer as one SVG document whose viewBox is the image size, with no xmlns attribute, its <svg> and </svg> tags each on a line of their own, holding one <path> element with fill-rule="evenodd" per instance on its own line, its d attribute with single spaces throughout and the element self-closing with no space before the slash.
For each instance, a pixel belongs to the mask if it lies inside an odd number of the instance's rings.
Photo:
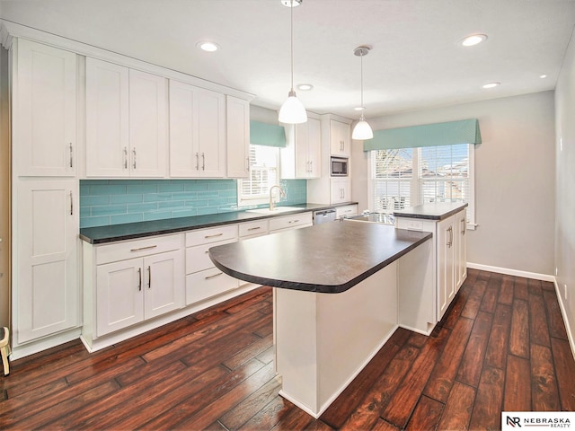
<svg viewBox="0 0 575 431">
<path fill-rule="evenodd" d="M 377 381 L 399 350 L 400 346 L 397 343 L 385 343 L 384 347 L 380 348 L 376 353 L 376 356 L 367 363 L 358 376 L 332 402 L 332 405 L 323 412 L 321 416 L 323 422 L 330 427 L 341 428 L 346 419 L 349 418 L 349 415 L 358 407 L 365 393 Z"/>
</svg>

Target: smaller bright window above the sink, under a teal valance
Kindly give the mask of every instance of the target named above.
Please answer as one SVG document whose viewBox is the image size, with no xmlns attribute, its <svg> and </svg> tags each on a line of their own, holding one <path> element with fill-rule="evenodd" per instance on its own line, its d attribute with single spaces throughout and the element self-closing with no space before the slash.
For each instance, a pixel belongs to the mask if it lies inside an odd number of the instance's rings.
<svg viewBox="0 0 575 431">
<path fill-rule="evenodd" d="M 238 206 L 267 204 L 279 184 L 279 148 L 250 145 L 250 178 L 237 181 Z"/>
</svg>

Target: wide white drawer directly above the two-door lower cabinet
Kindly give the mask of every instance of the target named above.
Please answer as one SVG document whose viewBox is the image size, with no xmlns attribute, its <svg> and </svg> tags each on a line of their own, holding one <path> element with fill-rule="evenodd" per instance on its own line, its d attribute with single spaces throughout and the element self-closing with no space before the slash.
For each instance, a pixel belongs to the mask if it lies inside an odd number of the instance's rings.
<svg viewBox="0 0 575 431">
<path fill-rule="evenodd" d="M 182 247 L 183 234 L 181 233 L 98 245 L 95 247 L 96 265 L 124 259 L 141 258 L 150 254 L 163 253 L 164 251 L 180 250 Z"/>
</svg>

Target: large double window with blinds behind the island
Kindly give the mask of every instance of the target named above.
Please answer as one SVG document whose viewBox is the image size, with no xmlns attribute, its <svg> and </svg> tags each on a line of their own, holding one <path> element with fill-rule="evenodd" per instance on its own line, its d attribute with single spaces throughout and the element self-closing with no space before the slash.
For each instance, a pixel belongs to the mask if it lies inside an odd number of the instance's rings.
<svg viewBox="0 0 575 431">
<path fill-rule="evenodd" d="M 370 152 L 370 207 L 394 210 L 430 202 L 467 202 L 474 224 L 473 145 L 439 145 Z"/>
</svg>

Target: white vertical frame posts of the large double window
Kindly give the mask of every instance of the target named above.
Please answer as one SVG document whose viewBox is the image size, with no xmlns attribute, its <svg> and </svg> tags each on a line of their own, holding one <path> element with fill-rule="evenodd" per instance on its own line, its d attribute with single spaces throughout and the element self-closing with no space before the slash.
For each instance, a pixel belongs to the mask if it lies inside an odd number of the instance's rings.
<svg viewBox="0 0 575 431">
<path fill-rule="evenodd" d="M 469 180 L 469 200 L 467 201 L 467 205 L 468 207 L 467 209 L 467 229 L 469 230 L 474 230 L 475 227 L 477 227 L 477 224 L 475 223 L 475 145 L 473 144 L 467 144 L 468 145 L 468 154 L 469 154 L 469 172 L 468 172 L 468 180 Z M 375 208 L 375 202 L 374 202 L 374 188 L 375 188 L 375 178 L 374 178 L 374 172 L 373 172 L 373 157 L 374 154 L 377 150 L 370 150 L 367 156 L 367 204 L 369 208 Z M 412 160 L 411 160 L 411 164 L 412 164 L 412 172 L 419 172 L 419 166 L 418 164 L 420 163 L 420 152 L 419 152 L 419 148 L 418 147 L 413 147 L 411 148 L 411 151 L 413 154 L 417 154 L 417 155 L 412 155 Z M 420 188 L 419 188 L 419 183 L 420 183 L 420 177 L 419 174 L 416 173 L 414 174 L 411 179 L 411 187 L 410 187 L 410 198 L 411 198 L 411 206 L 415 206 L 415 205 L 419 205 L 420 203 Z M 415 200 L 414 200 L 415 199 Z"/>
</svg>

